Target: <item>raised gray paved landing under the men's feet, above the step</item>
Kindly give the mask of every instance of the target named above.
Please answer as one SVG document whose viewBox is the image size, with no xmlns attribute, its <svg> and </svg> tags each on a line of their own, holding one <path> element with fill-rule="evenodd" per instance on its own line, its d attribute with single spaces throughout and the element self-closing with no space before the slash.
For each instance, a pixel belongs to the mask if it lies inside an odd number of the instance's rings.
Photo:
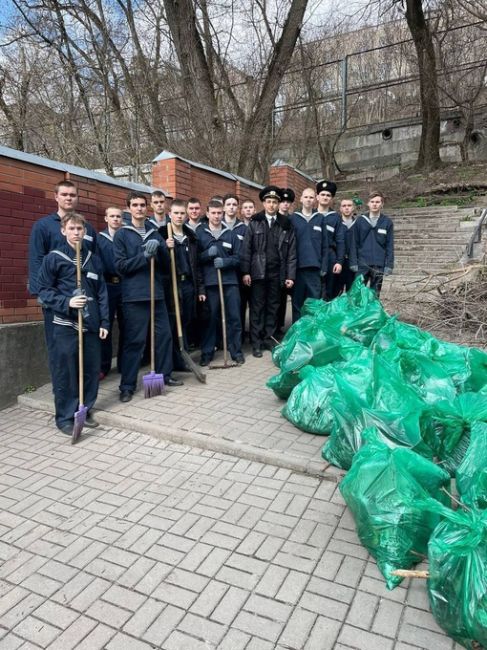
<svg viewBox="0 0 487 650">
<path fill-rule="evenodd" d="M 209 370 L 206 384 L 182 374 L 184 386 L 168 388 L 149 400 L 139 389 L 127 404 L 118 399 L 119 375 L 113 373 L 100 384 L 96 417 L 106 426 L 336 480 L 341 472 L 321 458 L 324 438 L 299 431 L 285 420 L 280 413 L 284 402 L 265 387 L 277 372 L 269 352 L 262 359 L 248 355 L 243 366 Z M 22 395 L 19 402 L 53 412 L 50 385 Z"/>
</svg>

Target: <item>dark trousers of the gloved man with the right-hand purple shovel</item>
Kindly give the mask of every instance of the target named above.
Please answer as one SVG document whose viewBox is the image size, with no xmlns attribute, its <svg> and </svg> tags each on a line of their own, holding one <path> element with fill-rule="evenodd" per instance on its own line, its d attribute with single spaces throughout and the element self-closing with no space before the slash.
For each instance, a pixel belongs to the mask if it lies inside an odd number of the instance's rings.
<svg viewBox="0 0 487 650">
<path fill-rule="evenodd" d="M 120 390 L 134 392 L 144 347 L 150 332 L 150 301 L 123 303 L 124 340 L 120 369 Z M 155 368 L 168 377 L 172 372 L 172 336 L 164 300 L 155 305 Z"/>
</svg>

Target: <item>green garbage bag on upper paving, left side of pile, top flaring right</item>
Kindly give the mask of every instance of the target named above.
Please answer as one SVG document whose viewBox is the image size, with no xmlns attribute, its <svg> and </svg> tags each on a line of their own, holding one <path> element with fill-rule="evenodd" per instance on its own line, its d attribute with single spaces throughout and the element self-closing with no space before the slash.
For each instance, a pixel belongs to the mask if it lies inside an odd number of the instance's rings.
<svg viewBox="0 0 487 650">
<path fill-rule="evenodd" d="M 328 435 L 333 427 L 331 399 L 337 391 L 336 376 L 366 403 L 372 399 L 372 363 L 370 353 L 350 361 L 323 368 L 306 366 L 300 373 L 300 383 L 293 389 L 282 414 L 303 431 Z"/>
</svg>

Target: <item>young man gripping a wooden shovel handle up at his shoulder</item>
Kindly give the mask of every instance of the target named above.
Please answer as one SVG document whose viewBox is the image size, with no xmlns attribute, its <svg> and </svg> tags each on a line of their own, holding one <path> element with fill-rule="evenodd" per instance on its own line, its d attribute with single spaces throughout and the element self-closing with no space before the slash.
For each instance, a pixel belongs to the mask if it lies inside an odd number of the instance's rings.
<svg viewBox="0 0 487 650">
<path fill-rule="evenodd" d="M 181 313 L 181 325 L 183 329 L 183 338 L 185 349 L 188 349 L 188 329 L 195 319 L 196 299 L 202 296 L 203 279 L 198 262 L 198 240 L 194 230 L 188 225 L 186 220 L 186 203 L 179 199 L 174 199 L 171 204 L 169 213 L 173 236 L 168 238 L 167 225 L 161 228 L 160 232 L 166 241 L 169 249 L 174 249 L 176 261 L 176 274 L 179 293 L 179 304 Z M 172 289 L 172 278 L 171 278 Z M 204 301 L 205 297 L 200 298 Z M 174 296 L 171 290 L 171 311 L 174 311 Z M 177 327 L 175 312 L 173 313 L 173 340 L 177 341 Z M 181 356 L 179 347 L 176 346 L 173 353 L 175 370 L 186 370 L 186 365 Z"/>
</svg>

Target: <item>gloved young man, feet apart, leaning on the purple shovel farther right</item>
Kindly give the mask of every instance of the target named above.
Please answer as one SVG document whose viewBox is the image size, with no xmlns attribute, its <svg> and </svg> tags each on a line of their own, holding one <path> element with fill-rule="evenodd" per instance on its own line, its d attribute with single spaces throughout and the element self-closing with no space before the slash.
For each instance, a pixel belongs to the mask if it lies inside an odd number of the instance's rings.
<svg viewBox="0 0 487 650">
<path fill-rule="evenodd" d="M 164 297 L 163 270 L 168 272 L 169 253 L 157 229 L 147 219 L 144 194 L 131 192 L 127 206 L 132 224 L 114 237 L 115 268 L 122 276 L 124 341 L 122 349 L 120 401 L 129 402 L 137 386 L 147 333 L 150 326 L 150 260 L 155 259 L 155 371 L 164 375 L 166 386 L 181 386 L 171 377 L 172 336 Z"/>
</svg>

